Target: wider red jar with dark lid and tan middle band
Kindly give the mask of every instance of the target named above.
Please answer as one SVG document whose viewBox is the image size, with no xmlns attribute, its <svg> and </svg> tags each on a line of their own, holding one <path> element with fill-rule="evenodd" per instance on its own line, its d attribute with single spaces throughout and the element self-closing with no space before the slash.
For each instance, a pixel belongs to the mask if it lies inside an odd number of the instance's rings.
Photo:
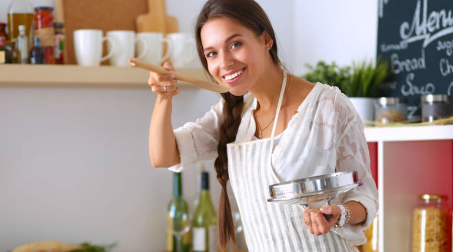
<svg viewBox="0 0 453 252">
<path fill-rule="evenodd" d="M 53 8 L 35 8 L 35 37 L 41 41 L 41 48 L 44 50 L 44 64 L 55 64 L 53 52 L 55 46 L 55 31 L 53 28 Z"/>
</svg>

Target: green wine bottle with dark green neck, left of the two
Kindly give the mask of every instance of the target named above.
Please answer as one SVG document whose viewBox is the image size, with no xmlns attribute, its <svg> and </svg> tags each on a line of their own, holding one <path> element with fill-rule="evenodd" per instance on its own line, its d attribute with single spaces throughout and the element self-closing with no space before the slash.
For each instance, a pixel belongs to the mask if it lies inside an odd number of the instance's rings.
<svg viewBox="0 0 453 252">
<path fill-rule="evenodd" d="M 167 252 L 190 252 L 189 208 L 182 197 L 181 173 L 173 173 L 173 198 L 168 205 Z"/>
</svg>

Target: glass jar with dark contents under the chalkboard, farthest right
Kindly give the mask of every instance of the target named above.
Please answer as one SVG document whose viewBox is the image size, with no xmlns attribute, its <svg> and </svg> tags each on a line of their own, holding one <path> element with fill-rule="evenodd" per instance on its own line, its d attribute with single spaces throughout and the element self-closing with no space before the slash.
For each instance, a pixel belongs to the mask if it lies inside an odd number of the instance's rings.
<svg viewBox="0 0 453 252">
<path fill-rule="evenodd" d="M 446 94 L 423 95 L 421 101 L 423 121 L 432 122 L 452 113 L 449 97 Z"/>
</svg>

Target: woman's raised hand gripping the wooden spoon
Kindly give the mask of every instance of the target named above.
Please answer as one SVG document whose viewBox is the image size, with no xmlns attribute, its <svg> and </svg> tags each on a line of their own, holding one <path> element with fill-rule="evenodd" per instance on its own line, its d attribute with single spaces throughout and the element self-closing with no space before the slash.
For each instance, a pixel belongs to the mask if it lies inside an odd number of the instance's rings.
<svg viewBox="0 0 453 252">
<path fill-rule="evenodd" d="M 164 68 L 168 71 L 175 71 L 170 61 L 164 63 Z M 181 90 L 176 87 L 176 82 L 173 75 L 149 72 L 148 85 L 154 93 L 163 98 L 170 98 L 179 94 Z"/>
</svg>

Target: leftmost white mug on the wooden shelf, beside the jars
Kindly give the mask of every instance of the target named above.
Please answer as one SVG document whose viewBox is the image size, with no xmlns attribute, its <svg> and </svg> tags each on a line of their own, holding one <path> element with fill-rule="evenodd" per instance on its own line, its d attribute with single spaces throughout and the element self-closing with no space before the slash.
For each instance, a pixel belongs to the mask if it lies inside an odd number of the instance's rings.
<svg viewBox="0 0 453 252">
<path fill-rule="evenodd" d="M 80 66 L 99 66 L 101 61 L 110 58 L 117 47 L 115 42 L 102 36 L 102 30 L 79 29 L 74 33 L 75 60 Z M 108 41 L 110 47 L 106 56 L 102 56 L 102 43 Z"/>
</svg>

